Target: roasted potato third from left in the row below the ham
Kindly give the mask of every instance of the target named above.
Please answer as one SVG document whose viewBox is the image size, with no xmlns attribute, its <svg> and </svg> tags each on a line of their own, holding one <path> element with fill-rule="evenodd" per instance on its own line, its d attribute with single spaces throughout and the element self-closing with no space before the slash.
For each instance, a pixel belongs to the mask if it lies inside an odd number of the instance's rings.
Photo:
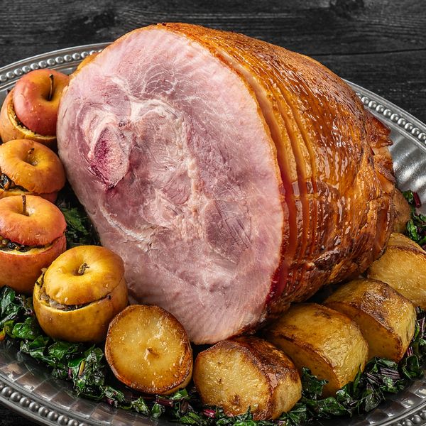
<svg viewBox="0 0 426 426">
<path fill-rule="evenodd" d="M 368 344 L 358 326 L 346 315 L 316 303 L 293 305 L 263 334 L 299 370 L 310 368 L 329 382 L 324 396 L 354 380 L 368 360 Z"/>
</svg>

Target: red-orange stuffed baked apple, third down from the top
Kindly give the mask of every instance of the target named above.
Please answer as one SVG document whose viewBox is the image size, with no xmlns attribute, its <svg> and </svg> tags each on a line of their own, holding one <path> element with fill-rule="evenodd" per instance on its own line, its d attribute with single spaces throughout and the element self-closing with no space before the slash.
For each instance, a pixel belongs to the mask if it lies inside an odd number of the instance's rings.
<svg viewBox="0 0 426 426">
<path fill-rule="evenodd" d="M 65 251 L 60 209 L 33 195 L 0 200 L 0 286 L 31 293 L 35 280 Z"/>
</svg>

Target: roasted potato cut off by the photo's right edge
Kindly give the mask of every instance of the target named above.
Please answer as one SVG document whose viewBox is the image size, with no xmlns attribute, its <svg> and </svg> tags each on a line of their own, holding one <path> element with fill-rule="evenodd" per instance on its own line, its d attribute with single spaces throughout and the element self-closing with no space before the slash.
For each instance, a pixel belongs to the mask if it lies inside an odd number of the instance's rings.
<svg viewBox="0 0 426 426">
<path fill-rule="evenodd" d="M 391 234 L 385 253 L 368 268 L 367 275 L 426 309 L 426 251 L 403 234 Z"/>
</svg>

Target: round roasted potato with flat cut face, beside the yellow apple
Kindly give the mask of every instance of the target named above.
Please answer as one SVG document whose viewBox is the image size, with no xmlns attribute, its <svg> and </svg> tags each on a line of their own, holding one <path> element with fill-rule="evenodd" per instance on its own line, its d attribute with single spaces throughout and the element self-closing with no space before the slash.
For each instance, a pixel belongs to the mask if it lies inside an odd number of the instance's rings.
<svg viewBox="0 0 426 426">
<path fill-rule="evenodd" d="M 109 324 L 105 356 L 119 381 L 144 393 L 185 388 L 192 348 L 185 329 L 158 306 L 131 305 Z"/>
</svg>

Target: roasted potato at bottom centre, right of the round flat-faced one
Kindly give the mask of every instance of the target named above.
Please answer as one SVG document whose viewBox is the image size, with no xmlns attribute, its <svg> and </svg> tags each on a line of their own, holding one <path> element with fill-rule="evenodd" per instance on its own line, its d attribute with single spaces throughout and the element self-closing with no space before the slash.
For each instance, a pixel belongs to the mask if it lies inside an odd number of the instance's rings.
<svg viewBox="0 0 426 426">
<path fill-rule="evenodd" d="M 222 407 L 226 415 L 250 408 L 255 420 L 279 417 L 302 395 L 293 362 L 258 337 L 224 340 L 201 352 L 194 382 L 204 404 Z"/>
</svg>

